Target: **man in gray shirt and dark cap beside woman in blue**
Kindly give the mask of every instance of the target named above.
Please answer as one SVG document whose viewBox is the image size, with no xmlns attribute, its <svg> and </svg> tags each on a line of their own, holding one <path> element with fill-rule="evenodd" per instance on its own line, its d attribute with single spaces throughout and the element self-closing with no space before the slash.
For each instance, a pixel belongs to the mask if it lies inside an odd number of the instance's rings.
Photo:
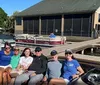
<svg viewBox="0 0 100 85">
<path fill-rule="evenodd" d="M 57 51 L 51 51 L 50 55 L 51 60 L 48 62 L 47 73 L 43 81 L 50 81 L 52 78 L 59 78 L 61 76 L 62 64 L 58 61 Z"/>
</svg>

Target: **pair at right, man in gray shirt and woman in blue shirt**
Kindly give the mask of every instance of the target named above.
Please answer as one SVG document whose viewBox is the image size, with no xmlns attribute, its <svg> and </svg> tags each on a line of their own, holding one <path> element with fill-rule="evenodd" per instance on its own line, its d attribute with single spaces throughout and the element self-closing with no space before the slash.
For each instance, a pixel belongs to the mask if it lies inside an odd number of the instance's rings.
<svg viewBox="0 0 100 85">
<path fill-rule="evenodd" d="M 65 60 L 62 63 L 58 60 L 57 51 L 51 51 L 51 60 L 47 67 L 43 80 L 48 81 L 49 85 L 68 85 L 72 79 L 79 78 L 84 73 L 70 49 L 65 50 Z"/>
</svg>

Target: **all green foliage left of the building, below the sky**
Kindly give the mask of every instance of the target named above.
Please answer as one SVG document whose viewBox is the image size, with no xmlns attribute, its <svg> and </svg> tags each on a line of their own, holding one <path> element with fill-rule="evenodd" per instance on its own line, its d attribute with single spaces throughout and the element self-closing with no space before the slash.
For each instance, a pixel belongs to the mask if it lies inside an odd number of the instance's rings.
<svg viewBox="0 0 100 85">
<path fill-rule="evenodd" d="M 3 33 L 14 33 L 14 17 L 7 16 L 2 8 L 0 8 L 0 27 Z"/>
</svg>

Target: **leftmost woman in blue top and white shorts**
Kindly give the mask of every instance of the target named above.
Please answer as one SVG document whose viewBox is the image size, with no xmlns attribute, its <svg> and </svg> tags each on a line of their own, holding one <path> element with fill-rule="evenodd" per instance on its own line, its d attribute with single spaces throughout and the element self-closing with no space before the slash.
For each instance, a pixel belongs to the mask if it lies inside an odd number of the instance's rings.
<svg viewBox="0 0 100 85">
<path fill-rule="evenodd" d="M 10 60 L 13 56 L 13 51 L 11 50 L 11 45 L 5 42 L 4 50 L 0 51 L 0 85 L 9 83 L 11 78 L 9 73 L 11 71 Z"/>
</svg>

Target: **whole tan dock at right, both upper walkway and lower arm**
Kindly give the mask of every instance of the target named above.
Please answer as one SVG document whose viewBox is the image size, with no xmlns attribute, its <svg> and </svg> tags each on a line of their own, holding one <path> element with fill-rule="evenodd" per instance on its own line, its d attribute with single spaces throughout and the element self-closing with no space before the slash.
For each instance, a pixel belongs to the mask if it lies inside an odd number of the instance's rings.
<svg viewBox="0 0 100 85">
<path fill-rule="evenodd" d="M 76 42 L 76 43 L 66 43 L 58 46 L 54 46 L 51 48 L 45 48 L 43 49 L 43 54 L 46 55 L 48 58 L 50 58 L 50 52 L 52 50 L 58 51 L 59 58 L 65 58 L 65 50 L 71 49 L 74 52 L 74 56 L 76 59 L 79 60 L 79 62 L 88 64 L 90 66 L 100 67 L 100 57 L 98 56 L 92 56 L 92 55 L 84 55 L 84 50 L 87 48 L 91 48 L 93 50 L 94 47 L 100 47 L 100 38 L 83 41 L 83 42 Z M 32 51 L 34 51 L 34 48 L 30 47 Z M 21 48 L 23 49 L 23 47 Z M 81 54 L 77 54 L 78 51 L 81 51 Z"/>
</svg>

